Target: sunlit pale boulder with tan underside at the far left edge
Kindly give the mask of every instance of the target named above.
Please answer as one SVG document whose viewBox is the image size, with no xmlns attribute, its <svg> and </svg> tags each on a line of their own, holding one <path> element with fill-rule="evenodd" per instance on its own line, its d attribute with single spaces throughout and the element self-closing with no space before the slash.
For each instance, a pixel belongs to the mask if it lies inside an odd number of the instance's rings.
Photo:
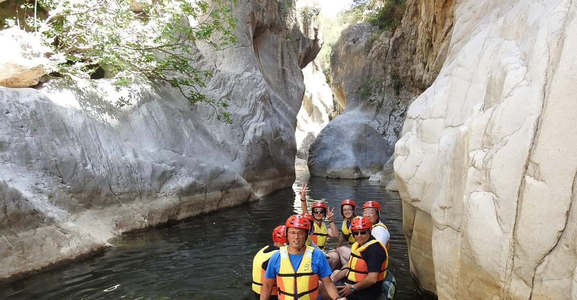
<svg viewBox="0 0 577 300">
<path fill-rule="evenodd" d="M 46 74 L 44 66 L 49 61 L 45 54 L 50 52 L 39 37 L 12 27 L 0 31 L 0 44 L 0 86 L 27 88 L 38 84 Z"/>
</svg>

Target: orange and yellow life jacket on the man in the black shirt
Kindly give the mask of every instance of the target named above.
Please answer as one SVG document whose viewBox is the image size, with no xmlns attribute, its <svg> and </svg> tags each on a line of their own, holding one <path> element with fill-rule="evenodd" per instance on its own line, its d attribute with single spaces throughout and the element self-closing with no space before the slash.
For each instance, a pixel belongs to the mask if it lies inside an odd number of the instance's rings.
<svg viewBox="0 0 577 300">
<path fill-rule="evenodd" d="M 381 271 L 379 272 L 379 277 L 377 277 L 377 281 L 385 279 L 387 276 L 387 267 L 389 265 L 389 254 L 383 243 L 377 241 L 376 239 L 371 239 L 366 242 L 364 245 L 359 247 L 359 243 L 355 242 L 353 246 L 351 246 L 351 256 L 349 256 L 349 271 L 347 272 L 347 280 L 351 283 L 361 282 L 365 279 L 366 276 L 369 275 L 369 267 L 366 265 L 366 261 L 362 258 L 362 253 L 374 243 L 379 243 L 379 246 L 383 248 L 385 255 L 385 261 L 381 265 Z"/>
</svg>

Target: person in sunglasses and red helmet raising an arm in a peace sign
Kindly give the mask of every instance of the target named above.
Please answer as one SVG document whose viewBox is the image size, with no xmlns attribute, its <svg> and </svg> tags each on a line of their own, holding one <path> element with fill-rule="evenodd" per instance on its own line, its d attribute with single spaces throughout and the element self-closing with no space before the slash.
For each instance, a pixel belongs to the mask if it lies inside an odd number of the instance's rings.
<svg viewBox="0 0 577 300">
<path fill-rule="evenodd" d="M 308 207 L 306 205 L 306 183 L 302 185 L 301 190 L 299 190 L 299 194 L 301 196 L 302 212 L 305 215 L 309 215 Z M 338 235 L 339 231 L 337 231 L 334 222 L 335 214 L 333 213 L 333 211 L 335 210 L 335 208 L 332 208 L 331 211 L 329 211 L 327 204 L 325 204 L 324 202 L 315 201 L 311 205 L 310 210 L 313 213 L 312 215 L 309 215 L 312 217 L 313 220 L 313 233 L 310 236 L 310 239 L 312 242 L 316 243 L 317 246 L 319 246 L 319 249 L 324 250 L 324 245 L 327 242 L 327 237 L 331 238 L 339 237 Z M 329 224 L 328 228 L 323 223 L 323 219 L 325 216 L 327 217 L 328 220 Z M 307 245 L 310 245 L 310 243 L 307 242 Z"/>
</svg>

